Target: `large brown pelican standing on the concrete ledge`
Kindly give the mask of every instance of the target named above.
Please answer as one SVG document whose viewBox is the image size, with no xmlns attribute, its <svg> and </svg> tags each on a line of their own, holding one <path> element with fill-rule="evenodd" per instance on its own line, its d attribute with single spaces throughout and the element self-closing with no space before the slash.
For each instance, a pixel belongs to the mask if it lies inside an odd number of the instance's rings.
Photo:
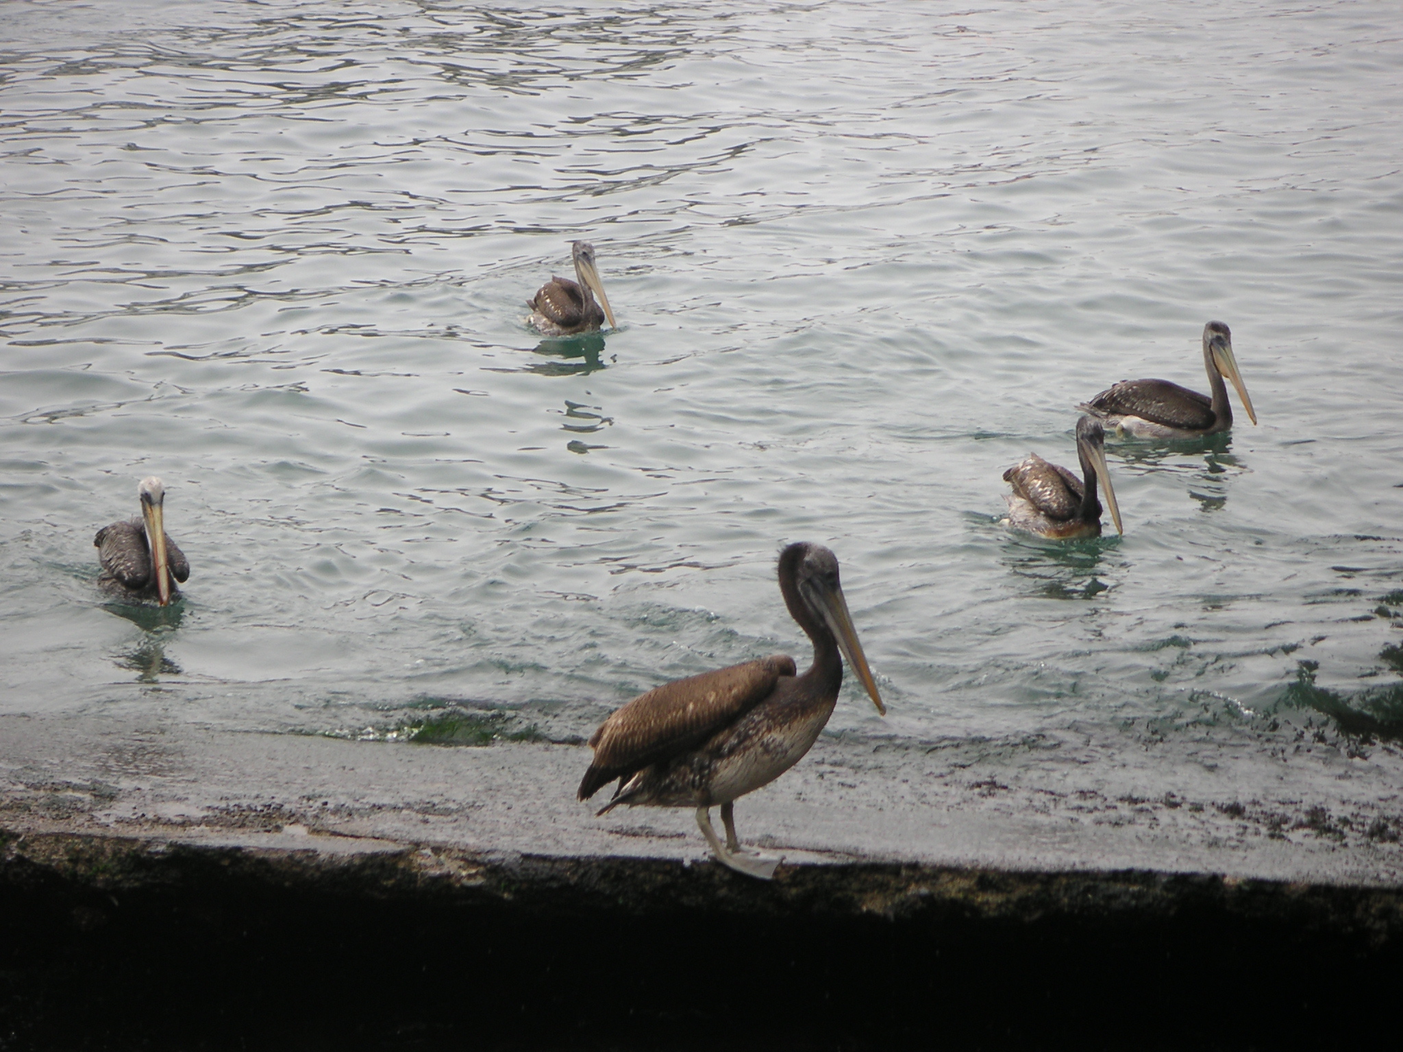
<svg viewBox="0 0 1403 1052">
<path fill-rule="evenodd" d="M 593 732 L 593 762 L 579 783 L 579 800 L 588 800 L 619 778 L 600 815 L 620 804 L 694 807 L 717 860 L 760 879 L 774 875 L 779 860 L 741 849 L 735 800 L 774 781 L 814 745 L 843 682 L 839 654 L 877 711 L 887 714 L 838 584 L 833 553 L 822 544 L 790 544 L 780 553 L 779 578 L 784 606 L 814 644 L 808 672 L 796 675 L 794 659 L 776 654 L 654 687 Z M 724 844 L 711 826 L 717 804 Z"/>
</svg>

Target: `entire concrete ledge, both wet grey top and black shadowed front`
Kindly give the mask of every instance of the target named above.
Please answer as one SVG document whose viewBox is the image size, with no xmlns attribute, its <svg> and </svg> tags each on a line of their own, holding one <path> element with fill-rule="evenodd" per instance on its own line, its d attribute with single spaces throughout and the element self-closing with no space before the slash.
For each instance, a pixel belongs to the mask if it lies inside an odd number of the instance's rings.
<svg viewBox="0 0 1403 1052">
<path fill-rule="evenodd" d="M 762 884 L 687 812 L 593 818 L 579 746 L 0 717 L 0 1048 L 1281 1046 L 1392 996 L 1367 780 L 873 749 L 742 801 Z"/>
</svg>

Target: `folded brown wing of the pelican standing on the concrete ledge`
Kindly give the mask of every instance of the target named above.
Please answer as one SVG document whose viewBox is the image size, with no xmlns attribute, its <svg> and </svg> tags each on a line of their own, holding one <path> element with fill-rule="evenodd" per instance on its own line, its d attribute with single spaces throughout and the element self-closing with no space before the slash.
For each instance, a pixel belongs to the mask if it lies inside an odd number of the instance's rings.
<svg viewBox="0 0 1403 1052">
<path fill-rule="evenodd" d="M 595 759 L 579 783 L 579 798 L 588 800 L 615 778 L 696 748 L 769 697 L 780 676 L 794 672 L 794 659 L 776 654 L 638 694 L 589 738 Z"/>
</svg>

